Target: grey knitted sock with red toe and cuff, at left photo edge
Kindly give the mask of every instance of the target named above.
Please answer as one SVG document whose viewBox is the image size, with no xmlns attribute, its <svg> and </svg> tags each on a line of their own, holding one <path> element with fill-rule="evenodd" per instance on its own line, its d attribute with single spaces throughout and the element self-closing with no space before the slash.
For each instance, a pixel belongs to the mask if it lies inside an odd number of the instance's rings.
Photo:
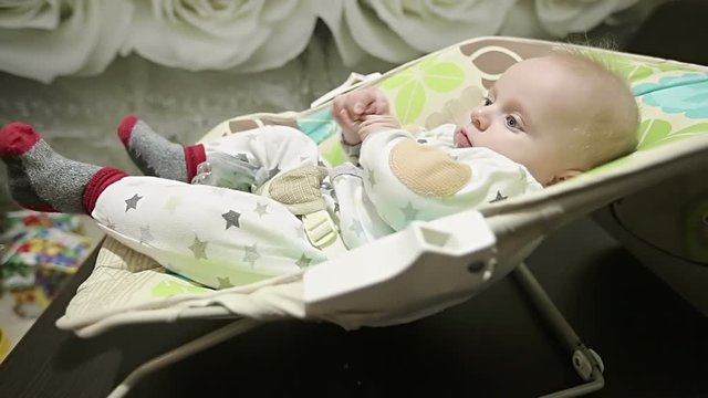
<svg viewBox="0 0 708 398">
<path fill-rule="evenodd" d="M 126 174 L 67 159 L 23 123 L 0 129 L 0 159 L 8 166 L 8 185 L 18 205 L 38 211 L 91 214 L 96 199 Z"/>
</svg>

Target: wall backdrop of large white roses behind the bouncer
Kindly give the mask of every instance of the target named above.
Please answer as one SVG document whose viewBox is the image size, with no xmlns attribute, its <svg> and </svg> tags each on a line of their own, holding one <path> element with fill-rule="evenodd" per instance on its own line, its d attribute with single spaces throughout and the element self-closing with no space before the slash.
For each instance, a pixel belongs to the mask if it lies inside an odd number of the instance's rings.
<svg viewBox="0 0 708 398">
<path fill-rule="evenodd" d="M 480 35 L 562 39 L 636 25 L 664 0 L 0 0 L 0 125 L 137 172 L 137 114 L 179 143 L 254 112 L 304 109 L 350 72 Z M 12 207 L 0 164 L 0 212 Z"/>
</svg>

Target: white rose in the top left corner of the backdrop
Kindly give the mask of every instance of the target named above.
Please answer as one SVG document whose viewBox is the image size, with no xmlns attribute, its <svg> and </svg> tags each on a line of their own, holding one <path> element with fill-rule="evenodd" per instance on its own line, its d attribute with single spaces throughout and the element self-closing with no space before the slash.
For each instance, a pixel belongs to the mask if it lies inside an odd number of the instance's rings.
<svg viewBox="0 0 708 398">
<path fill-rule="evenodd" d="M 101 73 L 126 36 L 125 0 L 6 0 L 0 4 L 0 70 L 50 83 Z"/>
</svg>

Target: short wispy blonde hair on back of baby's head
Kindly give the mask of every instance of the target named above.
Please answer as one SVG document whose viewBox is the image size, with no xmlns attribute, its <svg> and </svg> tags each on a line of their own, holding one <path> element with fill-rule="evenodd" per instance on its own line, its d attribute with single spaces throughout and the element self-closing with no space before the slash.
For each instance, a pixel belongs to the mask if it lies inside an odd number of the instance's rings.
<svg viewBox="0 0 708 398">
<path fill-rule="evenodd" d="M 585 126 L 580 126 L 583 168 L 590 169 L 634 151 L 641 116 L 627 81 L 602 55 L 585 49 L 561 45 L 548 56 L 564 61 L 601 93 L 597 111 L 590 115 Z"/>
</svg>

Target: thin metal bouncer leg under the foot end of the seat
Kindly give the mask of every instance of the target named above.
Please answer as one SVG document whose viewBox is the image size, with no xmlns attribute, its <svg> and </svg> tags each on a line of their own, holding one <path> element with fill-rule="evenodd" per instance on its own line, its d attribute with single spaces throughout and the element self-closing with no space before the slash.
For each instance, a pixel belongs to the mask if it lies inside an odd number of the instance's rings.
<svg viewBox="0 0 708 398">
<path fill-rule="evenodd" d="M 171 349 L 158 357 L 155 357 L 133 370 L 116 388 L 111 391 L 108 398 L 121 398 L 127 395 L 143 377 L 175 364 L 190 355 L 197 354 L 211 346 L 222 343 L 233 336 L 243 334 L 262 323 L 250 320 L 240 318 L 214 332 L 209 332 L 201 337 L 186 343 L 175 349 Z"/>
</svg>

